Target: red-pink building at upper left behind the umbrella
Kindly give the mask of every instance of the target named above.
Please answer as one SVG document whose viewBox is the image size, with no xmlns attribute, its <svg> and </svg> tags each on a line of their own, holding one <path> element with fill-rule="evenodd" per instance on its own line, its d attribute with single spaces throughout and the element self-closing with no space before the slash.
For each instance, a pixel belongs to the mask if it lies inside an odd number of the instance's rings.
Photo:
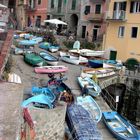
<svg viewBox="0 0 140 140">
<path fill-rule="evenodd" d="M 17 0 L 16 16 L 18 28 L 38 27 L 44 24 L 47 18 L 48 0 Z"/>
</svg>

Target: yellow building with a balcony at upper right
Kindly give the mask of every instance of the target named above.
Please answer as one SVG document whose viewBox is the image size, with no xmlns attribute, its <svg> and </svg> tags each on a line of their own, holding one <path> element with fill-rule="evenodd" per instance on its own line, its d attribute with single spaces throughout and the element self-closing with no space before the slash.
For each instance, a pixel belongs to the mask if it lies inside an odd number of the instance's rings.
<svg viewBox="0 0 140 140">
<path fill-rule="evenodd" d="M 111 0 L 106 15 L 108 22 L 104 49 L 114 49 L 117 59 L 140 60 L 140 1 Z"/>
</svg>

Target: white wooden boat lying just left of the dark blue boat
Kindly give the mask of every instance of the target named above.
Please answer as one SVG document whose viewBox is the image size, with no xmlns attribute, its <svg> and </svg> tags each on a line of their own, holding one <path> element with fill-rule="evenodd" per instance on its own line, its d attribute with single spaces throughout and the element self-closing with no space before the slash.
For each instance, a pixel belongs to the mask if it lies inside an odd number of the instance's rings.
<svg viewBox="0 0 140 140">
<path fill-rule="evenodd" d="M 73 55 L 66 55 L 66 56 L 62 56 L 61 60 L 70 63 L 70 64 L 74 64 L 74 65 L 79 65 L 81 63 L 87 63 L 88 59 L 82 56 L 73 56 Z"/>
</svg>

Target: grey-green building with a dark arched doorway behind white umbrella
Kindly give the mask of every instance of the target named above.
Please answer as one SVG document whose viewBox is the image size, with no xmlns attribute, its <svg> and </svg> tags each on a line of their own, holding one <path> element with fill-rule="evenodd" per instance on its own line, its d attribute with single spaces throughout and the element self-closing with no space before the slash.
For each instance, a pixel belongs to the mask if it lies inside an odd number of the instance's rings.
<svg viewBox="0 0 140 140">
<path fill-rule="evenodd" d="M 48 0 L 47 19 L 60 19 L 68 23 L 68 30 L 77 33 L 81 0 Z M 61 25 L 59 25 L 61 30 Z"/>
</svg>

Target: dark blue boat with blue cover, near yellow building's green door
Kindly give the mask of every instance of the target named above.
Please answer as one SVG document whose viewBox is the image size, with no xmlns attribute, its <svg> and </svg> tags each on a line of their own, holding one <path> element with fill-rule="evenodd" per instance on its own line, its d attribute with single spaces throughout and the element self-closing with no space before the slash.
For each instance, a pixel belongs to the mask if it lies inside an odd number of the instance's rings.
<svg viewBox="0 0 140 140">
<path fill-rule="evenodd" d="M 102 68 L 103 63 L 107 64 L 116 64 L 117 62 L 115 60 L 89 60 L 88 64 L 92 68 Z"/>
</svg>

